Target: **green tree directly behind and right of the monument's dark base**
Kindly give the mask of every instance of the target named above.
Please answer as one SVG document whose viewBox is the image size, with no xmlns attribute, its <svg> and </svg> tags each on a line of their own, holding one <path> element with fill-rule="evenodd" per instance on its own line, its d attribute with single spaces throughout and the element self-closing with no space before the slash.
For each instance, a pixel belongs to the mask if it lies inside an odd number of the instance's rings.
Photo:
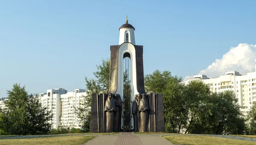
<svg viewBox="0 0 256 145">
<path fill-rule="evenodd" d="M 145 75 L 144 81 L 147 92 L 163 94 L 166 132 L 180 133 L 188 119 L 182 79 L 172 76 L 169 71 L 155 70 L 152 74 Z"/>
</svg>

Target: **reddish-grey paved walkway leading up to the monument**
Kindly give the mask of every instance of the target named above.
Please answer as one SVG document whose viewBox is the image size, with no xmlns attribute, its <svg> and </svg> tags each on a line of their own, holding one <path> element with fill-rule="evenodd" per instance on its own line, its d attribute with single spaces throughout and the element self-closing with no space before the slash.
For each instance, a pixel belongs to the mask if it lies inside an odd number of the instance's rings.
<svg viewBox="0 0 256 145">
<path fill-rule="evenodd" d="M 141 136 L 134 132 L 122 132 L 113 136 L 99 136 L 84 145 L 173 145 L 161 136 Z"/>
</svg>

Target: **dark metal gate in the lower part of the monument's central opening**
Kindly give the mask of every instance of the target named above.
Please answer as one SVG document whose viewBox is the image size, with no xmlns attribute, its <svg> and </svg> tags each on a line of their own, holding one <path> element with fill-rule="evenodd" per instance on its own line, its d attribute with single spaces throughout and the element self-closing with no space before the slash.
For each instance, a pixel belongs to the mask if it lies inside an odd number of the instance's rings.
<svg viewBox="0 0 256 145">
<path fill-rule="evenodd" d="M 131 85 L 124 84 L 124 132 L 131 131 Z"/>
</svg>

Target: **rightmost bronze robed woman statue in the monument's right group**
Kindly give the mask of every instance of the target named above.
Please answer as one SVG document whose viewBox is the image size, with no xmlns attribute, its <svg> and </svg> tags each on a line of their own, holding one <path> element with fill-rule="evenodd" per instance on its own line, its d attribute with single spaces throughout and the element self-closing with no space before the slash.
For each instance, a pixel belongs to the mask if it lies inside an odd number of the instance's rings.
<svg viewBox="0 0 256 145">
<path fill-rule="evenodd" d="M 148 97 L 147 94 L 142 95 L 140 100 L 139 113 L 140 113 L 140 132 L 148 131 Z"/>
</svg>

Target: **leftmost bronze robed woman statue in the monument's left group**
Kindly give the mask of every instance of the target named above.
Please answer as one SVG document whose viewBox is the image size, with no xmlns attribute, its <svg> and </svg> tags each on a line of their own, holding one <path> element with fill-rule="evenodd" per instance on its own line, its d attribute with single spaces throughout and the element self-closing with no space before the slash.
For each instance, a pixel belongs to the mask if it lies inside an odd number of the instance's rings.
<svg viewBox="0 0 256 145">
<path fill-rule="evenodd" d="M 113 99 L 113 96 L 110 93 L 108 95 L 108 99 L 106 100 L 105 110 L 104 110 L 104 112 L 106 112 L 106 132 L 113 132 L 115 111 L 116 111 L 115 100 Z"/>
</svg>

